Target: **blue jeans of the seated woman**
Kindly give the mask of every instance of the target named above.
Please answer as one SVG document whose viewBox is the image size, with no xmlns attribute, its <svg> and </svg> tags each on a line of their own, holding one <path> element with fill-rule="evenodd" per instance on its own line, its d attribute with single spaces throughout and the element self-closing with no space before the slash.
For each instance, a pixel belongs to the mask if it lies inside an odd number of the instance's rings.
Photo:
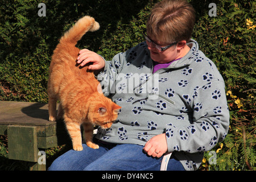
<svg viewBox="0 0 256 182">
<path fill-rule="evenodd" d="M 137 144 L 97 143 L 93 149 L 82 144 L 84 150 L 69 150 L 59 156 L 49 171 L 159 171 L 162 157 L 152 158 Z M 167 170 L 184 171 L 182 164 L 171 158 Z"/>
</svg>

